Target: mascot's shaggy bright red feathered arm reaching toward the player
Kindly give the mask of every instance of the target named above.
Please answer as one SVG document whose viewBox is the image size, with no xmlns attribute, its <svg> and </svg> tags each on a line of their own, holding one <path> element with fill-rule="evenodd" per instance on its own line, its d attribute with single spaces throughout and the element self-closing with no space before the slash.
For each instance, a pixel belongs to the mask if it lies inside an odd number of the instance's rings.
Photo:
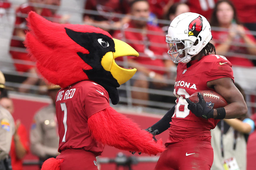
<svg viewBox="0 0 256 170">
<path fill-rule="evenodd" d="M 155 143 L 151 134 L 111 107 L 89 117 L 88 126 L 97 141 L 122 150 L 153 155 L 165 150 L 161 139 Z"/>
</svg>

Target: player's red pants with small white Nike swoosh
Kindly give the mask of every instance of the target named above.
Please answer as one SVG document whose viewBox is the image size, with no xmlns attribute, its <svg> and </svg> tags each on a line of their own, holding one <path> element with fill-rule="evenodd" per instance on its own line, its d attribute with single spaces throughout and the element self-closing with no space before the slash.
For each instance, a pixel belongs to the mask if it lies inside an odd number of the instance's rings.
<svg viewBox="0 0 256 170">
<path fill-rule="evenodd" d="M 182 141 L 167 146 L 155 170 L 210 170 L 213 148 L 209 141 Z"/>
</svg>

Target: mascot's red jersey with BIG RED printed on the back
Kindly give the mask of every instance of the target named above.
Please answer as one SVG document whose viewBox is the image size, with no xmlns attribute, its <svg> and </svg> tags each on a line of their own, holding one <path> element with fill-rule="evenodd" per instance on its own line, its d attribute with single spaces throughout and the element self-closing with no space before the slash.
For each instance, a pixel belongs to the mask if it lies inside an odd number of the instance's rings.
<svg viewBox="0 0 256 170">
<path fill-rule="evenodd" d="M 104 145 L 91 137 L 87 121 L 108 107 L 107 91 L 95 82 L 85 80 L 62 88 L 56 97 L 59 152 L 79 148 L 101 155 Z"/>
</svg>

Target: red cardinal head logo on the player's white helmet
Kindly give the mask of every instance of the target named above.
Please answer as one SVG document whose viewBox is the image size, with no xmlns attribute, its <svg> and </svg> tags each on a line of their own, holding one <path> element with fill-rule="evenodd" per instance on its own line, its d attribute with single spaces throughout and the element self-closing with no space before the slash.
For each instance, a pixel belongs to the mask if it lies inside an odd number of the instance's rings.
<svg viewBox="0 0 256 170">
<path fill-rule="evenodd" d="M 202 31 L 203 27 L 203 19 L 199 15 L 196 19 L 194 19 L 190 24 L 189 24 L 189 36 L 195 36 L 197 37 L 199 33 Z"/>
</svg>

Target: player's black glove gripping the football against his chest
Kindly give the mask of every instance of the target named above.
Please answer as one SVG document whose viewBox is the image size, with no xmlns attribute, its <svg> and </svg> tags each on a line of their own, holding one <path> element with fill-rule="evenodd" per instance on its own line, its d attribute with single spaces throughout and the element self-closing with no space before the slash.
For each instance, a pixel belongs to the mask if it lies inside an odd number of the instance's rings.
<svg viewBox="0 0 256 170">
<path fill-rule="evenodd" d="M 197 103 L 193 103 L 188 98 L 186 99 L 187 103 L 189 104 L 187 108 L 191 110 L 191 112 L 194 113 L 197 117 L 202 117 L 205 119 L 213 118 L 213 109 L 207 107 L 201 93 L 198 92 L 197 96 L 199 98 Z"/>
</svg>

